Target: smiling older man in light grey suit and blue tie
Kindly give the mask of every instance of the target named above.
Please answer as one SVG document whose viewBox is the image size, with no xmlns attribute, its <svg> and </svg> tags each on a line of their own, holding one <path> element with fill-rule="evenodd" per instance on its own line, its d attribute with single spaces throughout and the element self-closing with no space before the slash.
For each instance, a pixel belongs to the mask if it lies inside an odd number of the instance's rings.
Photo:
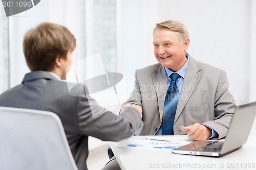
<svg viewBox="0 0 256 170">
<path fill-rule="evenodd" d="M 125 103 L 142 107 L 137 134 L 223 138 L 235 109 L 225 71 L 186 53 L 190 40 L 178 21 L 157 23 L 153 37 L 159 63 L 135 71 L 135 87 Z"/>
</svg>

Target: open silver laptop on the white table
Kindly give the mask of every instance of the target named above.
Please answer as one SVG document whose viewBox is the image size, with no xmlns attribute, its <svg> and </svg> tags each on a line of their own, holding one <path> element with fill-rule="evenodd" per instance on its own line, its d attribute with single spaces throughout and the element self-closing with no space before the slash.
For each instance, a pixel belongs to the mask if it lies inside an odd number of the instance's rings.
<svg viewBox="0 0 256 170">
<path fill-rule="evenodd" d="M 225 141 L 198 140 L 174 149 L 173 152 L 176 154 L 221 157 L 238 150 L 248 139 L 255 115 L 256 102 L 237 106 Z"/>
</svg>

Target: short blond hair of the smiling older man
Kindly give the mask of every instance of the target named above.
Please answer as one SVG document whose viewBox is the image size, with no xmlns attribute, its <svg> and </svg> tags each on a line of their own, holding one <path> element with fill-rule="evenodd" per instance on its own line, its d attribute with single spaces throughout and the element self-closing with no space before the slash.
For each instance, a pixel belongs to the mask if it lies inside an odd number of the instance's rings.
<svg viewBox="0 0 256 170">
<path fill-rule="evenodd" d="M 174 32 L 178 32 L 180 34 L 180 42 L 181 44 L 185 43 L 185 40 L 189 37 L 187 29 L 185 26 L 175 20 L 166 20 L 164 22 L 156 23 L 156 27 L 153 31 L 153 35 L 155 34 L 156 29 L 168 28 Z"/>
</svg>

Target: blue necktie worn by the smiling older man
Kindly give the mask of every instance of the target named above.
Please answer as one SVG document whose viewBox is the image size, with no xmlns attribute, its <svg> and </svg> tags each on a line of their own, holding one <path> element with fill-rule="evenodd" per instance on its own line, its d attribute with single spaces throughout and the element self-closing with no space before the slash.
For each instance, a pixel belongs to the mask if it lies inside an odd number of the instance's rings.
<svg viewBox="0 0 256 170">
<path fill-rule="evenodd" d="M 174 118 L 180 96 L 176 81 L 179 77 L 180 75 L 177 73 L 170 75 L 172 81 L 170 82 L 164 101 L 162 135 L 174 135 Z"/>
</svg>

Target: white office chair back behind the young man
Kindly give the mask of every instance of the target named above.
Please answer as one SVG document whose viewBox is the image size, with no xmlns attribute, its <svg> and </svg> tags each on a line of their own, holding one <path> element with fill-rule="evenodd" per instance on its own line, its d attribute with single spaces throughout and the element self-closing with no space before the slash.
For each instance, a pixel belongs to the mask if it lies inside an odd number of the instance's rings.
<svg viewBox="0 0 256 170">
<path fill-rule="evenodd" d="M 0 169 L 78 169 L 59 117 L 49 111 L 0 107 Z"/>
</svg>

